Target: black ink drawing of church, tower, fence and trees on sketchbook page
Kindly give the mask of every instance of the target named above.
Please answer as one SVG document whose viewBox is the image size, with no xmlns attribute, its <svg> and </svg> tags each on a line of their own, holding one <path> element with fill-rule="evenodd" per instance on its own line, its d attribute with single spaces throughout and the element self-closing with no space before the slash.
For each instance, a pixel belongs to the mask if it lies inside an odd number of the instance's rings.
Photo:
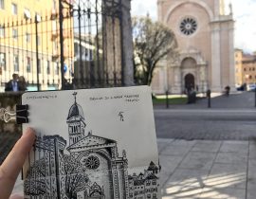
<svg viewBox="0 0 256 199">
<path fill-rule="evenodd" d="M 62 136 L 38 136 L 25 173 L 25 198 L 157 198 L 158 166 L 128 174 L 128 159 L 117 141 L 85 133 L 82 107 L 69 108 L 68 145 Z"/>
</svg>

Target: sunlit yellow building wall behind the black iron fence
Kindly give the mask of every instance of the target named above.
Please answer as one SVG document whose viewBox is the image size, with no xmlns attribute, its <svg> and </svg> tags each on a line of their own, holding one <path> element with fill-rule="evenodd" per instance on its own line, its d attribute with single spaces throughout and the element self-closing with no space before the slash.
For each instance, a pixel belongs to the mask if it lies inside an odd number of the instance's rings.
<svg viewBox="0 0 256 199">
<path fill-rule="evenodd" d="M 0 51 L 5 53 L 6 67 L 2 67 L 0 73 L 1 88 L 4 90 L 5 83 L 11 79 L 13 73 L 24 76 L 28 86 L 37 83 L 37 59 L 36 47 L 38 47 L 40 60 L 39 83 L 41 89 L 60 88 L 60 34 L 58 19 L 58 1 L 51 0 L 5 0 L 4 8 L 0 9 L 0 26 L 5 27 L 5 35 L 0 38 Z M 16 5 L 17 14 L 12 13 L 12 4 Z M 73 21 L 64 9 L 64 63 L 71 65 L 70 60 L 74 57 L 73 52 Z M 37 26 L 38 45 L 36 45 L 35 16 L 39 20 Z M 67 29 L 70 28 L 70 29 Z M 18 32 L 17 38 L 13 39 L 13 29 Z M 19 70 L 13 66 L 14 55 L 18 56 Z M 27 61 L 30 60 L 30 70 L 27 69 Z M 69 78 L 68 73 L 65 74 Z"/>
</svg>

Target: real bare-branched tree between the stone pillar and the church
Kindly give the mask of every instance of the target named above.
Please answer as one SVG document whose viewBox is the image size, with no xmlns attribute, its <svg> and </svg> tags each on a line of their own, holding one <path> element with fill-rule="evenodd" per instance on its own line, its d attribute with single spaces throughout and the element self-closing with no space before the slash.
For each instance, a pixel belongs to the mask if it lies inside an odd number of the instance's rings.
<svg viewBox="0 0 256 199">
<path fill-rule="evenodd" d="M 155 66 L 166 56 L 176 54 L 177 42 L 174 32 L 149 17 L 133 18 L 133 37 L 135 50 L 135 81 L 150 85 Z"/>
</svg>

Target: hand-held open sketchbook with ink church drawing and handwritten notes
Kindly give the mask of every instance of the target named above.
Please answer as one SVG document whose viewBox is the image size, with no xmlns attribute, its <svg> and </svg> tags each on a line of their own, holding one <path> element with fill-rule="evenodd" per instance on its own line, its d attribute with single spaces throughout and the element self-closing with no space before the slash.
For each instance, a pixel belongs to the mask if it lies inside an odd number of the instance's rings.
<svg viewBox="0 0 256 199">
<path fill-rule="evenodd" d="M 25 198 L 160 198 L 148 86 L 26 93 Z"/>
</svg>

